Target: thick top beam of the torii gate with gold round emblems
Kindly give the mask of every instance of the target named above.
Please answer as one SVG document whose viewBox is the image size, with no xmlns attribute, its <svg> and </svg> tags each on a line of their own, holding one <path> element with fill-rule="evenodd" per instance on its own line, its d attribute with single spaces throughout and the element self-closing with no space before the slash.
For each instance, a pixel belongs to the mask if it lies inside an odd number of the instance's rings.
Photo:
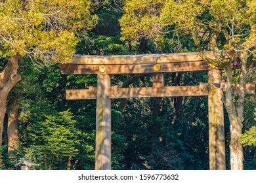
<svg viewBox="0 0 256 183">
<path fill-rule="evenodd" d="M 214 59 L 213 52 L 204 52 Z M 60 64 L 62 74 L 135 74 L 205 71 L 208 63 L 198 52 L 131 56 L 75 55 L 70 63 Z"/>
</svg>

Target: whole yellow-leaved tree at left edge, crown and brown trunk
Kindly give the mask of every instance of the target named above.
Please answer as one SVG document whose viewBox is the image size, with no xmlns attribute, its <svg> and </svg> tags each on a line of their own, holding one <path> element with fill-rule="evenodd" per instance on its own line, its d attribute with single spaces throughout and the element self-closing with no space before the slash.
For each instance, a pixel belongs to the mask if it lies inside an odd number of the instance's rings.
<svg viewBox="0 0 256 183">
<path fill-rule="evenodd" d="M 91 1 L 20 1 L 0 3 L 0 146 L 7 96 L 21 80 L 18 64 L 30 58 L 38 67 L 69 61 L 77 36 L 96 22 Z"/>
</svg>

